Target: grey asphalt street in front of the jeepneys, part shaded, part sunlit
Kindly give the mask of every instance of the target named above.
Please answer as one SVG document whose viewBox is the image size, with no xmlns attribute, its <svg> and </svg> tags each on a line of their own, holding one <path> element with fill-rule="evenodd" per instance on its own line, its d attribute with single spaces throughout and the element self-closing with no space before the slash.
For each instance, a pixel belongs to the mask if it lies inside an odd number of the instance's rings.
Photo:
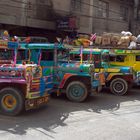
<svg viewBox="0 0 140 140">
<path fill-rule="evenodd" d="M 105 90 L 84 103 L 62 96 L 20 116 L 0 115 L 0 140 L 140 140 L 140 88 L 119 97 Z"/>
</svg>

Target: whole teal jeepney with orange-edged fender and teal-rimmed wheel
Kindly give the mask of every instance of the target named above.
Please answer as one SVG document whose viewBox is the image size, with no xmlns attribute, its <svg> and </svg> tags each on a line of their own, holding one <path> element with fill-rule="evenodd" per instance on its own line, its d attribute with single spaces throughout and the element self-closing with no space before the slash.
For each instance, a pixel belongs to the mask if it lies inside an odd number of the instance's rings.
<svg viewBox="0 0 140 140">
<path fill-rule="evenodd" d="M 21 43 L 20 46 L 30 50 L 30 62 L 40 64 L 43 76 L 51 80 L 49 83 L 46 81 L 46 88 L 50 87 L 50 92 L 57 95 L 66 93 L 69 100 L 82 102 L 92 89 L 101 88 L 100 74 L 91 71 L 94 65 L 70 63 L 63 45 Z"/>
</svg>

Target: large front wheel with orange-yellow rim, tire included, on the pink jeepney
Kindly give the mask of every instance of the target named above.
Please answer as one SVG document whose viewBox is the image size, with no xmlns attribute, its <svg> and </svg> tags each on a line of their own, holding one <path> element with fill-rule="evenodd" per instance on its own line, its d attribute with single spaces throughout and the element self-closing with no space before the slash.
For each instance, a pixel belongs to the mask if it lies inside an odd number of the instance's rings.
<svg viewBox="0 0 140 140">
<path fill-rule="evenodd" d="M 0 91 L 0 110 L 8 116 L 16 116 L 24 109 L 23 94 L 16 88 L 7 87 Z"/>
</svg>

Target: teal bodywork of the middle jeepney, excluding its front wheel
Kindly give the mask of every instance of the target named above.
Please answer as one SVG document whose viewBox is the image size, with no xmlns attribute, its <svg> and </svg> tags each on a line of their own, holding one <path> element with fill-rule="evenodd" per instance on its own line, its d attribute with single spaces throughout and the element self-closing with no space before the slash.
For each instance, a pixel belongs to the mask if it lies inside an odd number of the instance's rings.
<svg viewBox="0 0 140 140">
<path fill-rule="evenodd" d="M 69 73 L 71 76 L 88 76 L 90 80 L 93 79 L 93 76 L 91 78 L 91 75 L 89 74 L 90 64 L 80 65 L 78 63 L 70 63 L 68 60 L 64 62 L 59 61 L 58 50 L 64 49 L 63 45 L 31 43 L 27 44 L 26 47 L 30 49 L 30 61 L 41 65 L 43 77 L 50 76 L 50 81 L 46 81 L 46 84 L 47 82 L 49 83 L 52 91 L 63 88 L 62 83 L 70 78 L 66 78 L 66 75 Z M 95 81 L 98 80 L 99 79 Z M 100 86 L 101 83 L 95 81 L 91 81 L 91 85 L 93 85 L 93 87 Z"/>
</svg>

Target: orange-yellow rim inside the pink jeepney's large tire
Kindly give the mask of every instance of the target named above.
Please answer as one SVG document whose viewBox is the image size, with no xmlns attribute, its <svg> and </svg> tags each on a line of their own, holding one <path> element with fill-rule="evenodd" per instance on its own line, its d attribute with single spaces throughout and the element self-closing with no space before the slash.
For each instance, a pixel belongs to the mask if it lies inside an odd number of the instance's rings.
<svg viewBox="0 0 140 140">
<path fill-rule="evenodd" d="M 5 95 L 2 98 L 2 104 L 3 107 L 7 110 L 12 110 L 15 108 L 16 104 L 17 104 L 17 100 L 14 96 L 12 95 Z"/>
</svg>

